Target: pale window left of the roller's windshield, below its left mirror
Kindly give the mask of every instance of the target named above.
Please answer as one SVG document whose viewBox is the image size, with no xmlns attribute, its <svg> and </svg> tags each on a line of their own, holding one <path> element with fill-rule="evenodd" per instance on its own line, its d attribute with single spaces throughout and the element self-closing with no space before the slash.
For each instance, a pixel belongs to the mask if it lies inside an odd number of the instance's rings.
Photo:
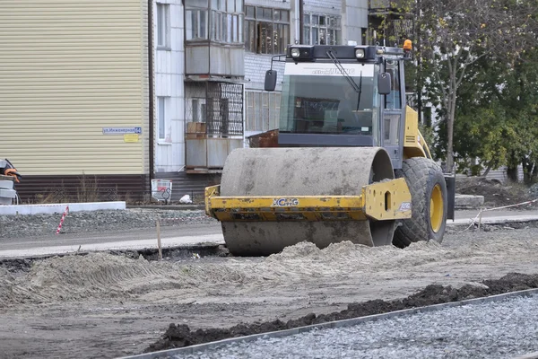
<svg viewBox="0 0 538 359">
<path fill-rule="evenodd" d="M 280 92 L 246 93 L 246 131 L 269 131 L 278 128 L 281 106 Z"/>
</svg>

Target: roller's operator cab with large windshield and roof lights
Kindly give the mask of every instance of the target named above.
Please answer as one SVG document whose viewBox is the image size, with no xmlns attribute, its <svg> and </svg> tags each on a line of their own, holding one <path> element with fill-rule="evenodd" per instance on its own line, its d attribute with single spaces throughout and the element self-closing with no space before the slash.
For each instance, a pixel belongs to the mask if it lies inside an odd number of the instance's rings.
<svg viewBox="0 0 538 359">
<path fill-rule="evenodd" d="M 291 46 L 282 81 L 281 146 L 380 146 L 402 168 L 402 48 Z M 273 91 L 277 74 L 265 75 Z M 416 139 L 413 136 L 413 142 Z M 430 155 L 422 148 L 424 155 Z"/>
</svg>

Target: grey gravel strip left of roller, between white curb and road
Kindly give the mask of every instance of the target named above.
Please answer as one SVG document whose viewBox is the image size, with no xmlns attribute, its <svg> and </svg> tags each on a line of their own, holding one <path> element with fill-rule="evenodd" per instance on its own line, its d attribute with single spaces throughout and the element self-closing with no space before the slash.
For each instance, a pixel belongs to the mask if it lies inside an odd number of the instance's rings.
<svg viewBox="0 0 538 359">
<path fill-rule="evenodd" d="M 62 218 L 55 215 L 0 215 L 0 238 L 21 238 L 54 234 Z M 123 211 L 74 212 L 65 216 L 63 233 L 110 232 L 152 228 L 155 221 L 174 226 L 182 223 L 216 223 L 200 210 L 134 208 Z"/>
</svg>

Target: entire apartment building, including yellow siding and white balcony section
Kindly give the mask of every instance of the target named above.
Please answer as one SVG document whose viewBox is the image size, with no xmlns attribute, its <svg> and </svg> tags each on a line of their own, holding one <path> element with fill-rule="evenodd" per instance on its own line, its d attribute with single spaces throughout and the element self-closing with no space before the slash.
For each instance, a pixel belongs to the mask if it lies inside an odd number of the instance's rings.
<svg viewBox="0 0 538 359">
<path fill-rule="evenodd" d="M 272 58 L 291 43 L 366 43 L 370 6 L 0 2 L 0 156 L 27 175 L 27 198 L 81 176 L 108 197 L 147 196 L 152 179 L 200 193 L 247 136 L 278 127 L 282 63 L 277 91 L 263 91 Z"/>
</svg>

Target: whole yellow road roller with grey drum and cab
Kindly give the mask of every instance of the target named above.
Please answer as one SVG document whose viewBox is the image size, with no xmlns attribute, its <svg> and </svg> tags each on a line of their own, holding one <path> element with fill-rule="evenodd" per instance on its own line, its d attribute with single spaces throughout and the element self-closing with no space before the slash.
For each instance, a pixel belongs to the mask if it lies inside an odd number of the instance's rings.
<svg viewBox="0 0 538 359">
<path fill-rule="evenodd" d="M 281 79 L 277 135 L 230 153 L 221 184 L 205 188 L 230 253 L 442 241 L 454 176 L 431 159 L 406 105 L 410 48 L 291 45 L 273 57 L 265 91 Z"/>
</svg>

